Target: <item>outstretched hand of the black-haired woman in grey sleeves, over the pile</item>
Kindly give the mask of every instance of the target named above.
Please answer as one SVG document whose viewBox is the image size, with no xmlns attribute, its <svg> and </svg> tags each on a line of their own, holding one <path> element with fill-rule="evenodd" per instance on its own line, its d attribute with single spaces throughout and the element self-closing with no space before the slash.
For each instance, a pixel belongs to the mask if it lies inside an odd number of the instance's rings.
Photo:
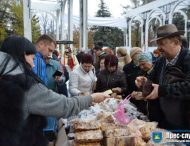
<svg viewBox="0 0 190 146">
<path fill-rule="evenodd" d="M 91 94 L 93 103 L 100 103 L 104 101 L 106 98 L 110 98 L 110 95 L 105 93 L 93 93 Z"/>
</svg>

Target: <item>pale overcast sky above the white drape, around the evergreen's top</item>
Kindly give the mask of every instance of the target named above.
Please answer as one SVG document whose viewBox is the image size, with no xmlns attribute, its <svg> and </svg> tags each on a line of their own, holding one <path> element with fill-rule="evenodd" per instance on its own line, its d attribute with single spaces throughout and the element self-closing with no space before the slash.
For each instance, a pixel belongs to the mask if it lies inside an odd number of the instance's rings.
<svg viewBox="0 0 190 146">
<path fill-rule="evenodd" d="M 112 17 L 122 17 L 122 6 L 130 4 L 130 0 L 104 0 L 108 10 L 112 14 Z M 88 15 L 95 16 L 98 10 L 100 0 L 88 0 Z M 73 14 L 79 14 L 79 0 L 73 0 Z"/>
</svg>

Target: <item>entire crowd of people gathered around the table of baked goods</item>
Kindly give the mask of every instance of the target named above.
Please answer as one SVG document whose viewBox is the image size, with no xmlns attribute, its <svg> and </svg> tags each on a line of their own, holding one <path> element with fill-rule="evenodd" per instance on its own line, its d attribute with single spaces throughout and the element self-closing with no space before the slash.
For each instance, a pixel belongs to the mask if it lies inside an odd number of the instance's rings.
<svg viewBox="0 0 190 146">
<path fill-rule="evenodd" d="M 153 53 L 139 47 L 114 53 L 99 43 L 76 56 L 68 47 L 60 58 L 48 35 L 35 45 L 9 36 L 0 48 L 0 145 L 45 146 L 44 117 L 67 118 L 105 98 L 124 99 L 148 81 L 151 93 L 131 102 L 160 128 L 189 129 L 190 51 L 181 38 L 168 24 L 158 28 Z"/>
</svg>

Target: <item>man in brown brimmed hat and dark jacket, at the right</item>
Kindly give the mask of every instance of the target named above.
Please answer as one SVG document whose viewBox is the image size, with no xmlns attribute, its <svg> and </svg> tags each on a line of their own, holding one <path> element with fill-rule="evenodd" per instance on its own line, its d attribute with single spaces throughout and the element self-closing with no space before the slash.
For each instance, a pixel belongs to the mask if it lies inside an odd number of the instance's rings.
<svg viewBox="0 0 190 146">
<path fill-rule="evenodd" d="M 156 41 L 162 57 L 148 76 L 153 91 L 146 99 L 159 99 L 163 112 L 159 126 L 165 129 L 190 129 L 190 51 L 180 46 L 180 32 L 173 24 L 160 26 Z M 137 77 L 141 87 L 145 77 Z"/>
</svg>

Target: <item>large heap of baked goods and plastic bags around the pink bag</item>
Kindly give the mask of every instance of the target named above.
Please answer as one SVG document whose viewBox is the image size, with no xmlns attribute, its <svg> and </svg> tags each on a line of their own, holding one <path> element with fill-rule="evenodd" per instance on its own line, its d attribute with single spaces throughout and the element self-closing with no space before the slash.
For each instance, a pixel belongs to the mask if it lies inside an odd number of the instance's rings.
<svg viewBox="0 0 190 146">
<path fill-rule="evenodd" d="M 157 128 L 156 122 L 138 119 L 142 113 L 130 102 L 124 108 L 130 122 L 120 125 L 114 114 L 120 100 L 110 98 L 83 110 L 72 120 L 74 146 L 148 146 L 151 132 Z M 144 116 L 144 115 L 143 115 Z M 145 117 L 145 116 L 144 116 Z"/>
</svg>

